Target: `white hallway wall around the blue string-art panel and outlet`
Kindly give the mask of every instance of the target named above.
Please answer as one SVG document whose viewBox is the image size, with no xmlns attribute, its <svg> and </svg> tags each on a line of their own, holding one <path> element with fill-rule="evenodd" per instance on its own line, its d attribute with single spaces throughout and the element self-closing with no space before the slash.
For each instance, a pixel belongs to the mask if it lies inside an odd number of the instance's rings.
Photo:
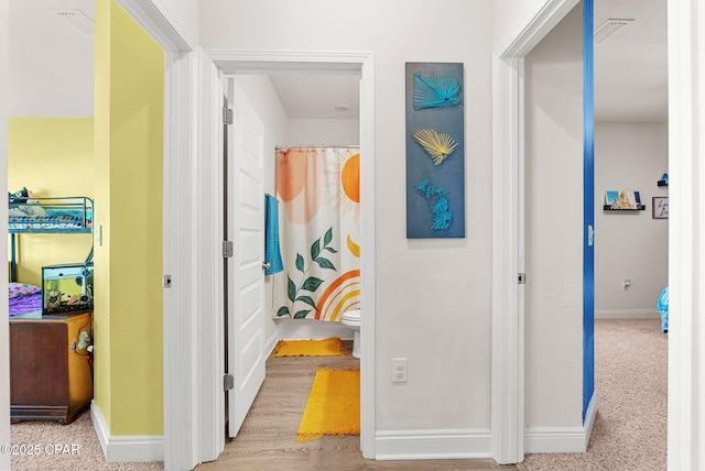
<svg viewBox="0 0 705 471">
<path fill-rule="evenodd" d="M 489 429 L 491 18 L 489 0 L 202 3 L 205 48 L 376 55 L 378 431 Z M 404 63 L 424 61 L 465 64 L 466 239 L 405 238 Z"/>
</svg>

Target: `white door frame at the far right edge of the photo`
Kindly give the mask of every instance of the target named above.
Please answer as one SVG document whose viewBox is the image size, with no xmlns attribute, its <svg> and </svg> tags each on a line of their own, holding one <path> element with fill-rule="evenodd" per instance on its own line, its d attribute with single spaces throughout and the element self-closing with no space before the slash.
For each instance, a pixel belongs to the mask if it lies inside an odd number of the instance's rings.
<svg viewBox="0 0 705 471">
<path fill-rule="evenodd" d="M 699 7 L 699 8 L 698 8 Z M 668 469 L 703 467 L 705 322 L 698 321 L 705 282 L 702 190 L 705 90 L 697 0 L 668 1 L 669 54 L 669 418 Z M 698 44 L 699 43 L 699 44 Z M 699 123 L 699 124 L 698 124 Z M 701 377 L 699 384 L 697 379 Z M 699 451 L 698 451 L 699 450 Z"/>
</svg>

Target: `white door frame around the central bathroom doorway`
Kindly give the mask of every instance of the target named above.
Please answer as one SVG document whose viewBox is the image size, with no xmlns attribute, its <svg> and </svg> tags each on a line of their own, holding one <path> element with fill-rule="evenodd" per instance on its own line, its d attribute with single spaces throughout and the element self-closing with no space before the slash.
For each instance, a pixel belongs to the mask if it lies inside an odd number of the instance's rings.
<svg viewBox="0 0 705 471">
<path fill-rule="evenodd" d="M 365 458 L 375 458 L 375 55 L 367 52 L 281 52 L 281 51 L 224 51 L 205 50 L 203 57 L 203 85 L 210 84 L 198 94 L 203 107 L 208 107 L 200 121 L 203 135 L 213 142 L 221 142 L 219 124 L 219 81 L 221 74 L 274 74 L 274 73 L 350 73 L 360 74 L 360 227 L 361 247 L 365 256 L 361 260 L 361 304 L 365 319 L 360 338 L 360 448 Z M 208 105 L 209 102 L 209 105 Z M 206 154 L 203 155 L 206 157 Z M 202 158 L 203 160 L 203 158 Z M 215 168 L 218 172 L 217 168 Z M 213 182 L 220 182 L 215 178 Z M 216 186 L 210 191 L 218 193 Z M 209 196 L 215 198 L 215 196 Z M 216 205 L 214 213 L 221 213 Z M 221 296 L 219 295 L 219 298 Z M 208 313 L 205 317 L 210 317 Z M 213 313 L 215 315 L 215 313 Z M 213 338 L 221 338 L 218 319 L 209 321 L 210 329 L 200 331 L 199 341 L 205 343 Z M 208 359 L 219 357 L 205 357 Z M 221 361 L 221 360 L 220 360 Z M 214 364 L 214 366 L 216 366 Z M 217 366 L 216 366 L 217 368 Z M 221 369 L 219 371 L 223 371 Z M 215 371 L 213 374 L 217 374 Z M 223 396 L 217 381 L 204 383 L 203 397 Z M 216 404 L 216 409 L 220 406 Z M 223 413 L 214 414 L 213 408 L 202 410 L 203 428 L 223 430 Z M 214 437 L 218 440 L 217 437 Z M 205 445 L 205 443 L 204 443 Z M 224 446 L 224 445 L 223 445 Z M 218 453 L 223 450 L 218 442 Z M 213 450 L 216 451 L 216 450 Z M 212 459 L 216 459 L 217 454 Z"/>
</svg>

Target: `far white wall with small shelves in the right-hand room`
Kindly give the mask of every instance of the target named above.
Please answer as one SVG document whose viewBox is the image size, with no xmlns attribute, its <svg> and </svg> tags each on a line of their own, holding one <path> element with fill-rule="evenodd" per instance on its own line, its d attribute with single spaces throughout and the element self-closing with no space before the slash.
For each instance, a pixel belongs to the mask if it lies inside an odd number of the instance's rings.
<svg viewBox="0 0 705 471">
<path fill-rule="evenodd" d="M 659 317 L 657 300 L 668 284 L 669 221 L 652 219 L 654 196 L 669 196 L 657 180 L 669 165 L 668 124 L 595 125 L 595 317 Z M 606 190 L 638 190 L 643 211 L 605 211 Z M 631 287 L 622 289 L 623 280 Z"/>
</svg>

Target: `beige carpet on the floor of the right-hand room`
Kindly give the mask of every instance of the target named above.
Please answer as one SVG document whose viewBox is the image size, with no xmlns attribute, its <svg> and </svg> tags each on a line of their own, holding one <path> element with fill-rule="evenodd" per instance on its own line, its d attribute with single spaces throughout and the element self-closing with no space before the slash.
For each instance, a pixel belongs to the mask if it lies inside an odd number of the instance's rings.
<svg viewBox="0 0 705 471">
<path fill-rule="evenodd" d="M 527 454 L 529 471 L 666 469 L 668 333 L 660 319 L 595 322 L 598 413 L 586 453 Z"/>
</svg>

